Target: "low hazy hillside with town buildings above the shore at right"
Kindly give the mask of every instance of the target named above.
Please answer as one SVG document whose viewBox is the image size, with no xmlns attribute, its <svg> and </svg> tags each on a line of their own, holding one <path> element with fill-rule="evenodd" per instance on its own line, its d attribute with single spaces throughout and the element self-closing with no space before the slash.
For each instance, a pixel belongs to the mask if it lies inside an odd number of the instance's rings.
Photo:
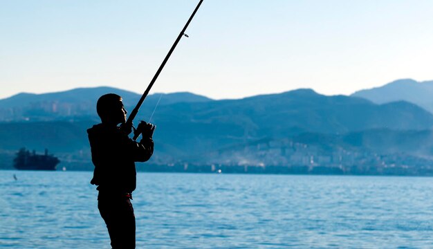
<svg viewBox="0 0 433 249">
<path fill-rule="evenodd" d="M 263 138 L 205 154 L 230 165 L 308 165 L 323 167 L 428 169 L 433 173 L 433 131 L 369 129 L 342 134 L 301 133 Z"/>
</svg>

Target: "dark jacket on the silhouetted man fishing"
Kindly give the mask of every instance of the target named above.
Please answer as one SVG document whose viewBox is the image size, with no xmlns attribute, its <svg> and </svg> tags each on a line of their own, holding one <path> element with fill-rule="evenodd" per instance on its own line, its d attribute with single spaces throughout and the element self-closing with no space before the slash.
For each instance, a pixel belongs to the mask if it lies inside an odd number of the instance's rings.
<svg viewBox="0 0 433 249">
<path fill-rule="evenodd" d="M 132 193 L 136 189 L 134 162 L 149 160 L 154 152 L 154 141 L 143 138 L 136 142 L 118 127 L 95 124 L 87 130 L 95 165 L 91 184 L 100 192 Z"/>
</svg>

